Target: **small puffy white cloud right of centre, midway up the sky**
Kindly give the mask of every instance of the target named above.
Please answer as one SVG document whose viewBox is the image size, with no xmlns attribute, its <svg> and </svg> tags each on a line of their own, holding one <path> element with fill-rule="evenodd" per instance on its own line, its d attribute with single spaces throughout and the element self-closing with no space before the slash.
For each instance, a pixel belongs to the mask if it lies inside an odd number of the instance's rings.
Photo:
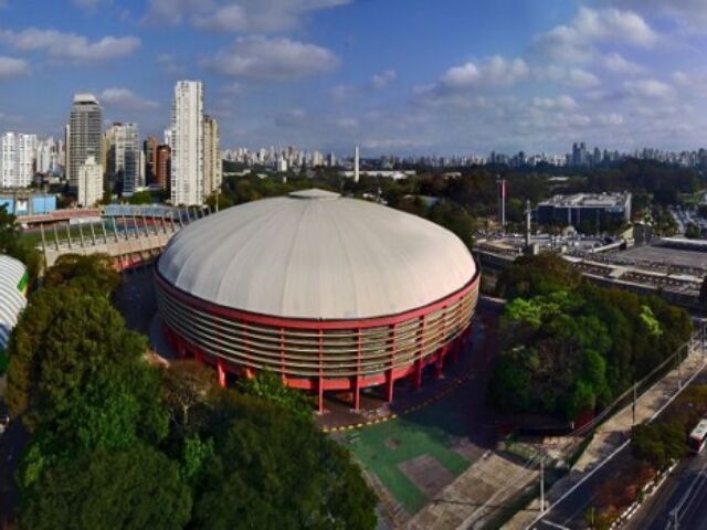
<svg viewBox="0 0 707 530">
<path fill-rule="evenodd" d="M 453 66 L 440 80 L 440 85 L 449 89 L 465 89 L 477 86 L 514 85 L 525 80 L 530 68 L 523 59 L 513 61 L 499 55 L 486 59 L 481 65 L 467 62 Z"/>
</svg>

